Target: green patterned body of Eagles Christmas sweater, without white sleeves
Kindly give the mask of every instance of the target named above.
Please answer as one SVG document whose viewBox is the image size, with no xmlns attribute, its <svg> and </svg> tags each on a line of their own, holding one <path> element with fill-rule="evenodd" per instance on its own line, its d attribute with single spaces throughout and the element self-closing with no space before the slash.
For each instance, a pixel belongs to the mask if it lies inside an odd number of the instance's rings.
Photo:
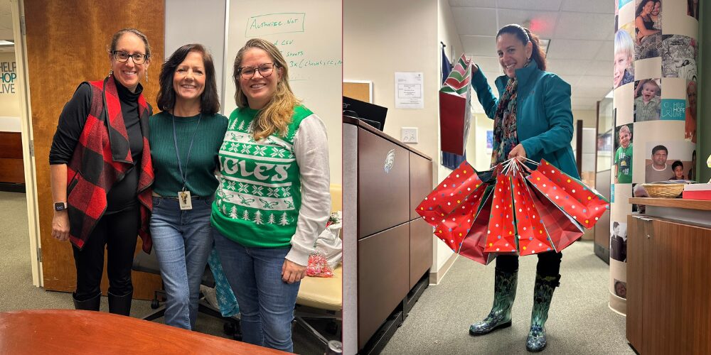
<svg viewBox="0 0 711 355">
<path fill-rule="evenodd" d="M 272 134 L 255 141 L 251 127 L 257 112 L 237 108 L 230 114 L 218 155 L 221 177 L 210 221 L 242 246 L 287 248 L 301 206 L 294 137 L 312 112 L 296 107 L 287 136 Z"/>
</svg>

